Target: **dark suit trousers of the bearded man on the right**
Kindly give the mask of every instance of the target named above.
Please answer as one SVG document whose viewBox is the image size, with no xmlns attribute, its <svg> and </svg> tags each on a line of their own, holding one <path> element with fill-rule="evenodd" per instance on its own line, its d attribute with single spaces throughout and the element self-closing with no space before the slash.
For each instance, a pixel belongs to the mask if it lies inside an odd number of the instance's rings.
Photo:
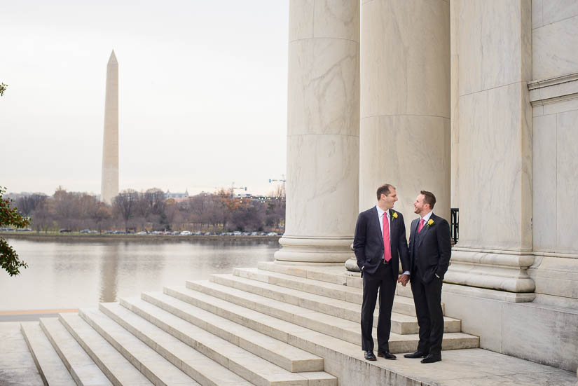
<svg viewBox="0 0 578 386">
<path fill-rule="evenodd" d="M 441 285 L 443 280 L 434 279 L 425 283 L 418 270 L 411 275 L 411 292 L 415 304 L 415 315 L 420 326 L 418 351 L 441 354 L 443 339 L 443 311 L 441 310 Z"/>
</svg>

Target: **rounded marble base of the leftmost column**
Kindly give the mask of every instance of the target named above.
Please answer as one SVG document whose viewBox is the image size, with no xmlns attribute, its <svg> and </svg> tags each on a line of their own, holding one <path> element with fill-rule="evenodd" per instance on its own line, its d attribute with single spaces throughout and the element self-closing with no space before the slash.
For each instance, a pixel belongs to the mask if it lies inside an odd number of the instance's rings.
<svg viewBox="0 0 578 386">
<path fill-rule="evenodd" d="M 275 252 L 275 263 L 343 264 L 354 256 L 350 237 L 305 237 L 283 235 Z"/>
</svg>

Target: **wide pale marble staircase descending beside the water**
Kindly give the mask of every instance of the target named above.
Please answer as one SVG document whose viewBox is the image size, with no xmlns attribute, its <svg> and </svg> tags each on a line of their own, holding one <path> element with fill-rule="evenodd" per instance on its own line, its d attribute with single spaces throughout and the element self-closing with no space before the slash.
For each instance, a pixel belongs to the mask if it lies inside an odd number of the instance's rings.
<svg viewBox="0 0 578 386">
<path fill-rule="evenodd" d="M 338 267 L 260 263 L 24 322 L 21 331 L 45 385 L 336 386 L 360 385 L 359 376 L 439 384 L 427 373 L 390 366 L 418 361 L 364 361 L 361 284 Z M 398 287 L 390 350 L 411 352 L 415 309 L 408 287 Z M 445 329 L 444 358 L 448 350 L 479 347 L 479 338 L 461 332 L 460 320 L 446 317 Z"/>
</svg>

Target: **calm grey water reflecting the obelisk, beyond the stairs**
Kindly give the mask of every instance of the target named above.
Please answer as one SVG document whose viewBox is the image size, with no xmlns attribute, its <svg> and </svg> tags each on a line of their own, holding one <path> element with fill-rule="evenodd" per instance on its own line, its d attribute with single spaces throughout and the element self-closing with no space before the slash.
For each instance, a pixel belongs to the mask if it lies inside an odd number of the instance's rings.
<svg viewBox="0 0 578 386">
<path fill-rule="evenodd" d="M 273 261 L 275 241 L 57 242 L 8 239 L 28 268 L 0 272 L 0 311 L 96 307 Z"/>
</svg>

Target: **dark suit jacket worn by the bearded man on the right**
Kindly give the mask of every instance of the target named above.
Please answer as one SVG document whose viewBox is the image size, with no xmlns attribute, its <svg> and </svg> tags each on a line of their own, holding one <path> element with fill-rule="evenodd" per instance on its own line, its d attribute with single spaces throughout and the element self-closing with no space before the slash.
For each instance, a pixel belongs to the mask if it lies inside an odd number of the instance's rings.
<svg viewBox="0 0 578 386">
<path fill-rule="evenodd" d="M 411 221 L 409 236 L 409 256 L 411 258 L 411 275 L 417 266 L 421 279 L 431 282 L 437 274 L 441 279 L 446 275 L 452 253 L 450 224 L 440 216 L 432 213 L 429 217 L 434 223 L 425 224 L 418 235 L 420 219 Z M 416 241 L 417 239 L 417 241 Z"/>
</svg>

